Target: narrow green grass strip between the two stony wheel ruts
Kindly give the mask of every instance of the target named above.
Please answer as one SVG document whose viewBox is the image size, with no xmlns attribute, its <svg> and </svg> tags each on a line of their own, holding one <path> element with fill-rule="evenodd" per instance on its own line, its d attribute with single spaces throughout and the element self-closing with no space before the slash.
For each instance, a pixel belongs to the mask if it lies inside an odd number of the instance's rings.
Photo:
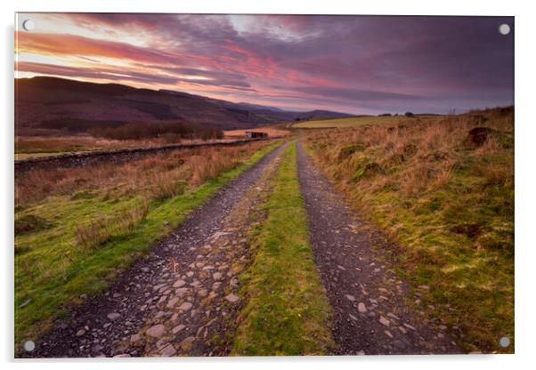
<svg viewBox="0 0 536 370">
<path fill-rule="evenodd" d="M 256 258 L 240 277 L 248 304 L 232 355 L 321 355 L 333 344 L 330 308 L 309 245 L 307 215 L 289 145 L 253 236 Z"/>
</svg>

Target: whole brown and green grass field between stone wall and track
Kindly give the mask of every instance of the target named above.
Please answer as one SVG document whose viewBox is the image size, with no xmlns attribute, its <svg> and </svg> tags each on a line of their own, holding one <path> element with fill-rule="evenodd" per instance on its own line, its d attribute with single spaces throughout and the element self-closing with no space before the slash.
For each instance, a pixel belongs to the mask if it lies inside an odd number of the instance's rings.
<svg viewBox="0 0 536 370">
<path fill-rule="evenodd" d="M 15 178 L 15 337 L 36 338 L 278 143 L 182 149 Z"/>
</svg>

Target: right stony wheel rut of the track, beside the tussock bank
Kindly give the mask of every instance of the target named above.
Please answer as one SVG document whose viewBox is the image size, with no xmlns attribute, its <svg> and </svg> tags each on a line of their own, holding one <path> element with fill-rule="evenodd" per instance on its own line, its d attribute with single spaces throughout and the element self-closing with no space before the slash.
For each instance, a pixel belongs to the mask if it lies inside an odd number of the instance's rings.
<svg viewBox="0 0 536 370">
<path fill-rule="evenodd" d="M 299 142 L 297 164 L 314 257 L 333 307 L 334 354 L 460 353 L 441 322 L 426 322 L 404 303 L 407 286 L 389 262 L 386 240 L 370 238 Z"/>
</svg>

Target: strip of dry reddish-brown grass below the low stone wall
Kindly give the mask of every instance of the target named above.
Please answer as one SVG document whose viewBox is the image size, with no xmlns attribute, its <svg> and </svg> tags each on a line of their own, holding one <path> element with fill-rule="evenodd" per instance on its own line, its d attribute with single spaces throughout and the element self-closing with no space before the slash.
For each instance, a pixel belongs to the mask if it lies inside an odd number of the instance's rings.
<svg viewBox="0 0 536 370">
<path fill-rule="evenodd" d="M 162 200 L 215 178 L 264 145 L 267 142 L 178 149 L 125 163 L 103 162 L 20 173 L 15 177 L 15 204 L 31 205 L 51 196 L 91 197 L 93 189 L 105 189 L 107 199 L 144 193 L 148 198 Z"/>
</svg>

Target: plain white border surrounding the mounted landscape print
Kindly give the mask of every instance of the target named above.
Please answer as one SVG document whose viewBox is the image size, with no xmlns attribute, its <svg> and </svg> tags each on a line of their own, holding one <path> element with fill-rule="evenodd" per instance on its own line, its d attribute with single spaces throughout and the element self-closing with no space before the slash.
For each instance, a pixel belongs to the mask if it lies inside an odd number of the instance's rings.
<svg viewBox="0 0 536 370">
<path fill-rule="evenodd" d="M 313 3 L 306 1 L 270 0 L 195 0 L 172 2 L 169 0 L 5 0 L 2 2 L 2 58 L 4 73 L 0 91 L 2 92 L 2 161 L 1 173 L 4 206 L 2 208 L 2 233 L 4 236 L 4 300 L 2 310 L 3 330 L 0 334 L 2 359 L 12 360 L 12 220 L 13 220 L 13 20 L 15 11 L 19 12 L 211 12 L 211 13 L 308 13 L 308 14 L 416 14 L 416 15 L 508 15 L 516 16 L 516 355 L 504 356 L 435 356 L 435 357 L 375 357 L 375 358 L 220 358 L 220 359 L 182 359 L 167 360 L 126 360 L 99 361 L 84 360 L 43 360 L 40 362 L 21 362 L 20 366 L 39 366 L 40 368 L 69 368 L 75 365 L 79 369 L 93 369 L 95 365 L 104 368 L 126 367 L 147 368 L 147 366 L 180 366 L 180 368 L 221 369 L 273 367 L 305 367 L 325 369 L 327 366 L 355 368 L 373 366 L 377 368 L 411 368 L 452 369 L 459 366 L 485 366 L 486 368 L 505 369 L 507 366 L 528 367 L 536 362 L 532 355 L 536 350 L 533 334 L 534 326 L 534 251 L 536 245 L 532 213 L 536 209 L 534 192 L 534 148 L 536 142 L 535 104 L 536 81 L 534 78 L 535 52 L 533 38 L 536 36 L 535 20 L 531 2 L 486 1 L 469 2 L 467 0 L 449 0 L 441 3 L 418 0 L 374 0 L 367 2 L 330 0 Z"/>
</svg>

